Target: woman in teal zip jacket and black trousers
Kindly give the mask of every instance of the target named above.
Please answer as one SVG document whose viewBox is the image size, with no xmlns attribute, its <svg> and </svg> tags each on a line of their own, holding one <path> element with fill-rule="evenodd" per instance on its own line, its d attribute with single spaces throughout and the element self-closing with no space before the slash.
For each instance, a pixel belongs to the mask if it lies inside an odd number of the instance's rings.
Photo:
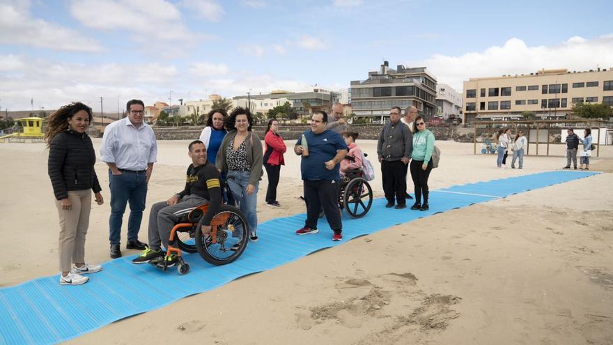
<svg viewBox="0 0 613 345">
<path fill-rule="evenodd" d="M 415 132 L 413 134 L 413 153 L 411 154 L 411 178 L 415 186 L 415 204 L 412 210 L 428 210 L 428 177 L 432 171 L 432 153 L 434 151 L 434 135 L 426 130 L 424 116 L 415 118 Z M 421 196 L 424 202 L 421 202 Z"/>
</svg>

